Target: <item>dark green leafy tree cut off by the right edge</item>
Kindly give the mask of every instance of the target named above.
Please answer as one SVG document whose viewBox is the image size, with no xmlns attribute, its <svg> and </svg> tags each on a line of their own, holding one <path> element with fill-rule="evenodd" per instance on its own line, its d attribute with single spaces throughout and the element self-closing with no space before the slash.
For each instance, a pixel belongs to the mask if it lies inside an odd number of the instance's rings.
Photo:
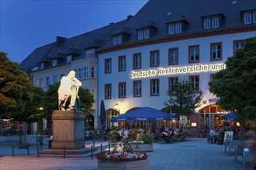
<svg viewBox="0 0 256 170">
<path fill-rule="evenodd" d="M 236 110 L 240 125 L 256 118 L 256 38 L 246 39 L 226 61 L 226 69 L 215 74 L 209 90 L 220 97 L 216 104 L 225 110 Z M 244 130 L 244 129 L 242 129 Z"/>
</svg>

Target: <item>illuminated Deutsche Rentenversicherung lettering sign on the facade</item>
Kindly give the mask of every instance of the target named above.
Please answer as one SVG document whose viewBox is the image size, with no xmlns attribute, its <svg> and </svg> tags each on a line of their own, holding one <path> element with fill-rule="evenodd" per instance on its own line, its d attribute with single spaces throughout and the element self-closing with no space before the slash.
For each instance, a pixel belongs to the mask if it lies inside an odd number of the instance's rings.
<svg viewBox="0 0 256 170">
<path fill-rule="evenodd" d="M 194 66 L 181 66 L 181 67 L 169 67 L 169 68 L 158 68 L 157 70 L 142 70 L 130 72 L 131 79 L 150 77 L 150 76 L 168 76 L 171 74 L 180 73 L 199 73 L 208 71 L 218 71 L 226 68 L 226 64 L 199 64 Z"/>
</svg>

